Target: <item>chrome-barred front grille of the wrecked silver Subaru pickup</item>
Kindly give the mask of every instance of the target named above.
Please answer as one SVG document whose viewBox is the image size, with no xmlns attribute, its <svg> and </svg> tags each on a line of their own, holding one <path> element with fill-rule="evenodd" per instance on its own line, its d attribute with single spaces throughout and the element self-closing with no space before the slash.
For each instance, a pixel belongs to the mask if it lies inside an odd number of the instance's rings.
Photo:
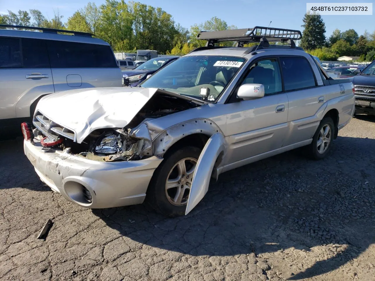
<svg viewBox="0 0 375 281">
<path fill-rule="evenodd" d="M 53 122 L 48 117 L 37 111 L 33 119 L 34 126 L 45 136 L 57 139 L 59 136 L 63 136 L 74 141 L 74 132 L 59 124 Z"/>
</svg>

